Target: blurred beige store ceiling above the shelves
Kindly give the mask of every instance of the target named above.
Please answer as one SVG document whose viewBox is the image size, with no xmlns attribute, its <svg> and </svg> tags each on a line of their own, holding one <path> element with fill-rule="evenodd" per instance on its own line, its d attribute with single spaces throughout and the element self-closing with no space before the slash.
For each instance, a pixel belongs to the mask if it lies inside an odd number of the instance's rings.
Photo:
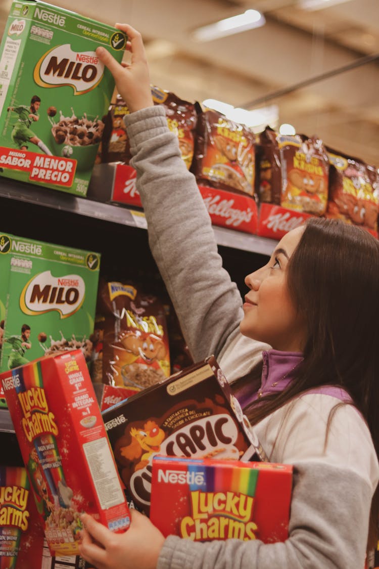
<svg viewBox="0 0 379 569">
<path fill-rule="evenodd" d="M 152 83 L 187 101 L 277 105 L 279 123 L 379 167 L 379 0 L 339 2 L 315 11 L 301 9 L 301 0 L 49 3 L 130 23 L 143 35 Z M 0 0 L 0 34 L 10 5 Z M 264 13 L 265 26 L 206 43 L 191 39 L 194 28 L 249 8 Z"/>
</svg>

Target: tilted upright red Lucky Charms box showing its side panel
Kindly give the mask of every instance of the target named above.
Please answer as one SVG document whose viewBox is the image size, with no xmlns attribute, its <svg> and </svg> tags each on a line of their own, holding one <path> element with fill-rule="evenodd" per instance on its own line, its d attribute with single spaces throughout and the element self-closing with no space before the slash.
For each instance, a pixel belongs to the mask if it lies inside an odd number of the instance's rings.
<svg viewBox="0 0 379 569">
<path fill-rule="evenodd" d="M 52 555 L 77 555 L 79 514 L 130 524 L 123 486 L 80 350 L 0 374 Z"/>
</svg>

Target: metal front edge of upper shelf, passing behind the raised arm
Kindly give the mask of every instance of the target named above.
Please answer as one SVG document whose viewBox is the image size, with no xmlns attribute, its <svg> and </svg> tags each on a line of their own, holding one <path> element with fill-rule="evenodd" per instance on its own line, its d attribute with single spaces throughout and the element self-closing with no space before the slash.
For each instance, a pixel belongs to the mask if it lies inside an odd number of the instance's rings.
<svg viewBox="0 0 379 569">
<path fill-rule="evenodd" d="M 28 185 L 16 180 L 0 178 L 0 197 L 37 204 L 47 208 L 58 209 L 69 213 L 93 217 L 101 221 L 128 225 L 135 228 L 147 229 L 143 212 L 126 206 L 106 204 L 84 197 L 72 196 L 38 185 Z M 213 226 L 218 245 L 270 255 L 276 241 L 233 229 Z"/>
</svg>

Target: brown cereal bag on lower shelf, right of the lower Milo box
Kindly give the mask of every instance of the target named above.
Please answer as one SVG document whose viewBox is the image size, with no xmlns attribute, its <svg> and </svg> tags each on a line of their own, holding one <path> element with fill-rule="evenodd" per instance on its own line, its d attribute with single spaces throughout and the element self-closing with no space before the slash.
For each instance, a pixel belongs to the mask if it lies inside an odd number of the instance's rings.
<svg viewBox="0 0 379 569">
<path fill-rule="evenodd" d="M 100 283 L 94 336 L 94 382 L 141 390 L 169 377 L 164 304 L 136 284 Z"/>
</svg>

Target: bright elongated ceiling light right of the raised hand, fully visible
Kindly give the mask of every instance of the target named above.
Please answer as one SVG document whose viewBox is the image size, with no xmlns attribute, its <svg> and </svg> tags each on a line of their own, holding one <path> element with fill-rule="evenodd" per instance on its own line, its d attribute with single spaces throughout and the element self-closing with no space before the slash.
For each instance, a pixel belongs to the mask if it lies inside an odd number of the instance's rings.
<svg viewBox="0 0 379 569">
<path fill-rule="evenodd" d="M 219 20 L 209 26 L 203 26 L 194 30 L 192 37 L 197 42 L 209 42 L 213 39 L 238 34 L 245 30 L 252 30 L 264 26 L 266 20 L 258 10 L 246 10 L 243 14 Z"/>
</svg>

